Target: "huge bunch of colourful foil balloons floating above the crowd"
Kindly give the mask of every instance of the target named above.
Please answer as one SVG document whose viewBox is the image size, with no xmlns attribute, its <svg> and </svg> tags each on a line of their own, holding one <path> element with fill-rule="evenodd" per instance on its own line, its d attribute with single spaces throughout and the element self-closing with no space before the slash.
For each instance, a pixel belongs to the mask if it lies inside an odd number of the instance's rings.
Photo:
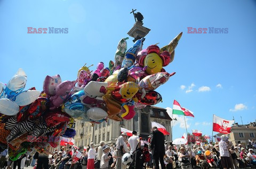
<svg viewBox="0 0 256 169">
<path fill-rule="evenodd" d="M 0 82 L 0 151 L 9 146 L 12 160 L 27 151 L 57 147 L 58 137 L 74 137 L 74 119 L 101 123 L 107 119 L 130 120 L 134 107 L 162 101 L 155 91 L 175 74 L 163 69 L 174 58 L 182 32 L 169 45 L 150 45 L 142 50 L 141 38 L 127 50 L 128 38 L 119 41 L 115 62 L 103 62 L 90 71 L 86 64 L 75 81 L 62 81 L 59 74 L 47 75 L 43 91 L 26 86 L 26 73 L 19 69 L 7 83 Z M 127 50 L 127 51 L 126 51 Z"/>
</svg>

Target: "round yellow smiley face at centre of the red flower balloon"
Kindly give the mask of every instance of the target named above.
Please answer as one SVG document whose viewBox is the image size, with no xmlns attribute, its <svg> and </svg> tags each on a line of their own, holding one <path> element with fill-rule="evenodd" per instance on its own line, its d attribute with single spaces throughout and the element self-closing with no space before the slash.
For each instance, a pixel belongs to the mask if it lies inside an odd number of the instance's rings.
<svg viewBox="0 0 256 169">
<path fill-rule="evenodd" d="M 148 66 L 146 69 L 148 74 L 158 73 L 163 69 L 163 60 L 158 54 L 150 53 L 145 57 L 144 66 Z"/>
</svg>

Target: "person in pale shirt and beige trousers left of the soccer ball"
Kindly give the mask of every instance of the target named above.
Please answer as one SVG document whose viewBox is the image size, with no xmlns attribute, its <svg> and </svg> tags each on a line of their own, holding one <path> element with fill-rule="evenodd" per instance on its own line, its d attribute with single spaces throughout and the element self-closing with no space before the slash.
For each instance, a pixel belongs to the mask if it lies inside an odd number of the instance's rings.
<svg viewBox="0 0 256 169">
<path fill-rule="evenodd" d="M 127 134 L 126 132 L 123 132 L 121 136 L 119 136 L 116 140 L 116 149 L 117 149 L 117 156 L 116 156 L 116 169 L 121 169 L 122 164 L 122 154 L 123 150 L 125 152 L 129 152 L 126 143 L 124 142 L 124 139 L 126 139 Z"/>
</svg>

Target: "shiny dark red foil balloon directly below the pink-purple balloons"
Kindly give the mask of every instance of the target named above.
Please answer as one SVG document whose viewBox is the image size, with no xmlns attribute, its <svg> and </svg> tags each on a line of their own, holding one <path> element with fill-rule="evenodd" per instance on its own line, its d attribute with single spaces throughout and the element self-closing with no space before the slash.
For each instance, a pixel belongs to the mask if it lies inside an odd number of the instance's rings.
<svg viewBox="0 0 256 169">
<path fill-rule="evenodd" d="M 61 111 L 46 112 L 43 116 L 48 127 L 56 126 L 62 122 L 69 122 L 71 118 L 67 113 Z"/>
</svg>

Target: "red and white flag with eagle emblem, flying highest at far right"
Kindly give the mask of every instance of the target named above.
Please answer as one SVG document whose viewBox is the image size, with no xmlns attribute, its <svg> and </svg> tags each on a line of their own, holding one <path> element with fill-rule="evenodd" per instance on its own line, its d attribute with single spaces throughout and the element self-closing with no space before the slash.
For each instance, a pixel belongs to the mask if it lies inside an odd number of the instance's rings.
<svg viewBox="0 0 256 169">
<path fill-rule="evenodd" d="M 217 115 L 213 115 L 213 131 L 228 134 L 230 133 L 231 126 L 233 125 L 234 120 L 225 120 Z"/>
</svg>

